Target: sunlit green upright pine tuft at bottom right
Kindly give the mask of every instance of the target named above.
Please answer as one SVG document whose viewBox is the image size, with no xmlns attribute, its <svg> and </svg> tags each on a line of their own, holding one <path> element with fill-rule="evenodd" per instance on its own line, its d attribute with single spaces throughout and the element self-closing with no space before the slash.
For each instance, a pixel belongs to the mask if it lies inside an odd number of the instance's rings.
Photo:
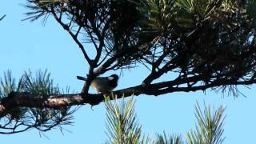
<svg viewBox="0 0 256 144">
<path fill-rule="evenodd" d="M 187 142 L 189 144 L 222 144 L 225 139 L 222 138 L 225 119 L 225 116 L 223 116 L 224 110 L 223 106 L 219 106 L 218 110 L 212 111 L 210 106 L 206 105 L 202 110 L 197 103 L 194 114 L 198 123 L 195 130 L 190 130 L 187 134 Z"/>
</svg>

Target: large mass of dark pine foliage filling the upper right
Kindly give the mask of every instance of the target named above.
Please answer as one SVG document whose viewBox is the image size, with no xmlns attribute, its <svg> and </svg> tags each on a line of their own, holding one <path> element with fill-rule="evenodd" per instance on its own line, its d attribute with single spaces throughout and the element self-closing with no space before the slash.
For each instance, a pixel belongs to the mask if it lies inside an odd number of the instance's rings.
<svg viewBox="0 0 256 144">
<path fill-rule="evenodd" d="M 32 20 L 55 13 L 70 21 L 66 29 L 78 34 L 81 29 L 72 26 L 81 26 L 82 37 L 102 50 L 102 62 L 118 55 L 110 69 L 139 62 L 155 74 L 153 80 L 167 72 L 178 78 L 200 75 L 188 86 L 206 88 L 254 81 L 254 0 L 74 0 L 53 1 L 46 8 L 27 2 Z"/>
</svg>

